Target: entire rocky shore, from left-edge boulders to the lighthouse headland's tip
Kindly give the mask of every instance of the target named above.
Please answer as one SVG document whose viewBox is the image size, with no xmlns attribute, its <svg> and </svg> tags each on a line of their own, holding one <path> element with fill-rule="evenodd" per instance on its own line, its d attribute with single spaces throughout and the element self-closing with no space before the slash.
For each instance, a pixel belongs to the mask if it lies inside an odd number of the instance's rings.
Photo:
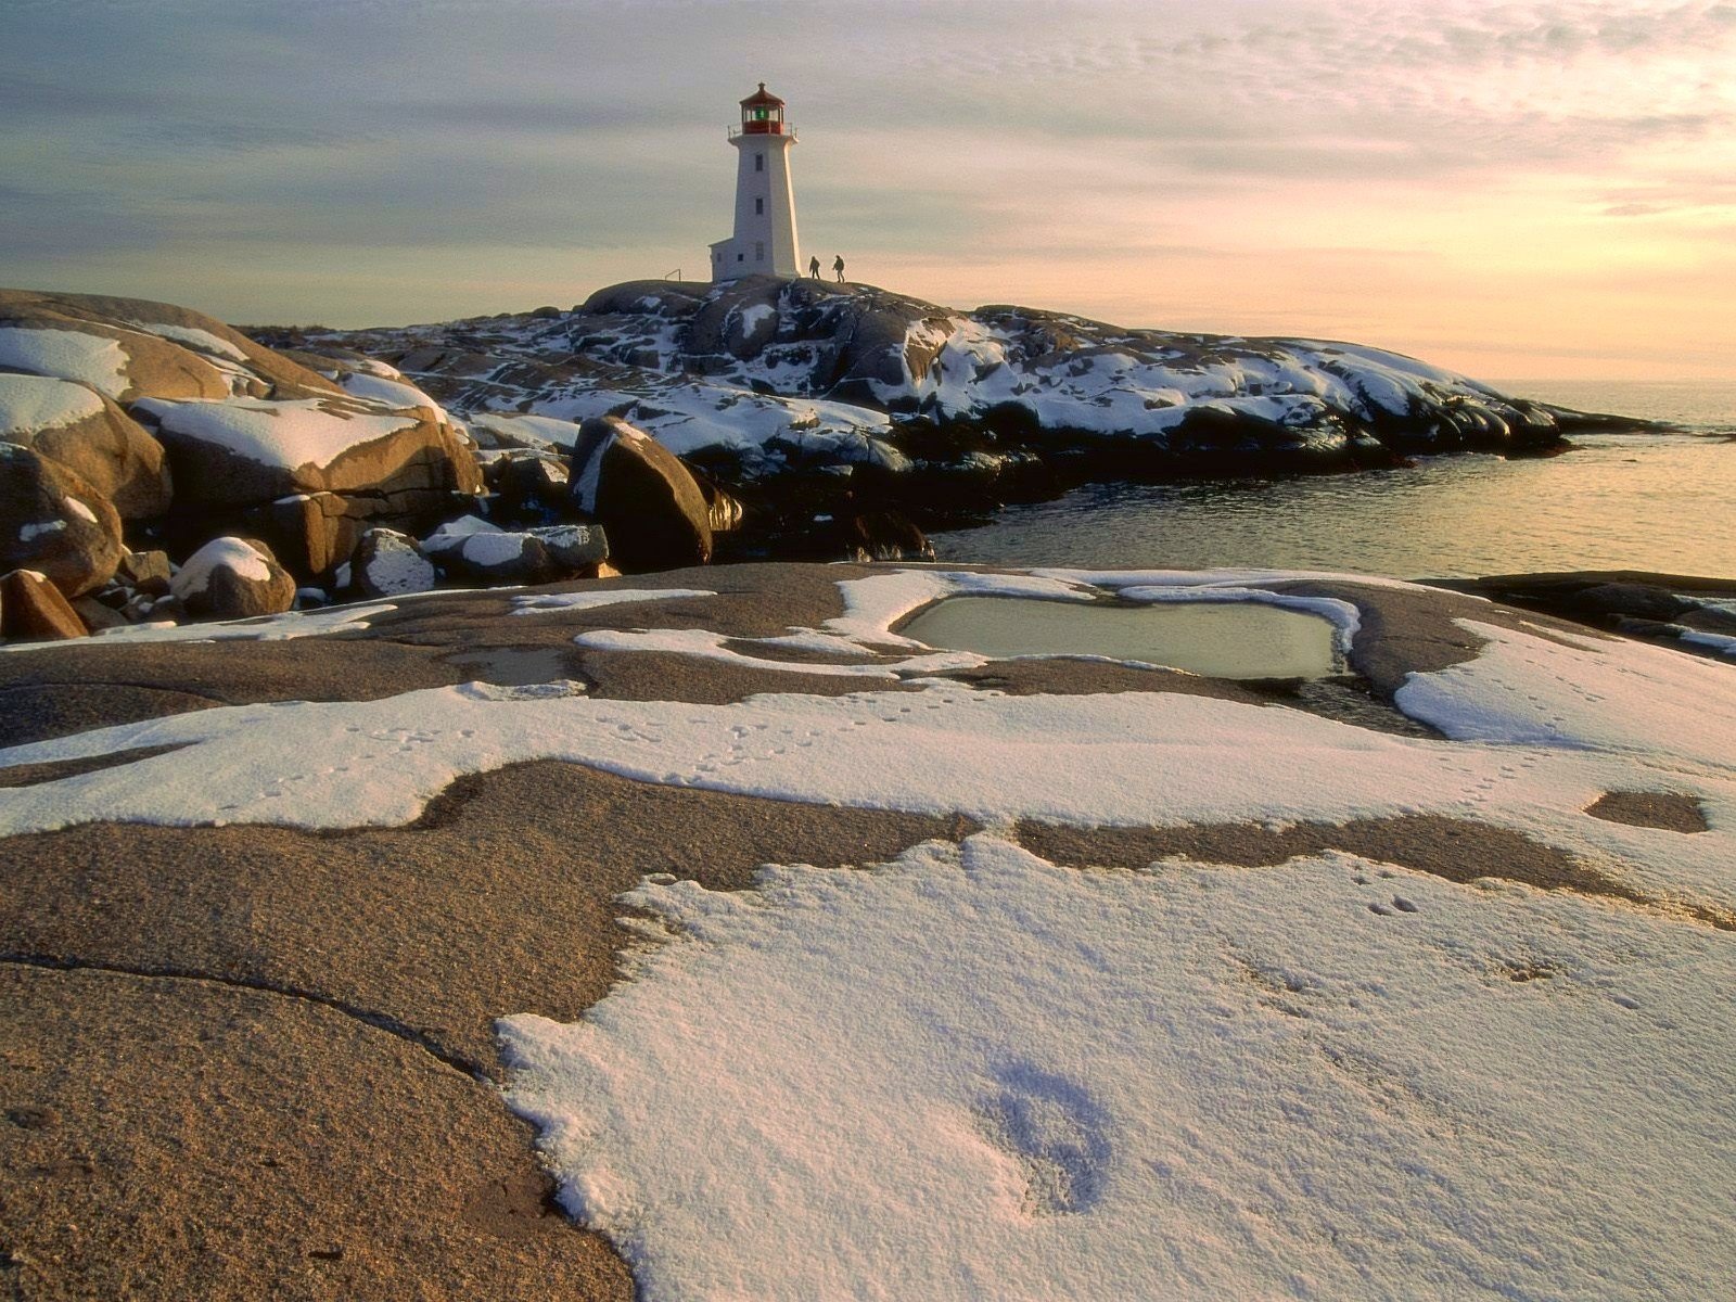
<svg viewBox="0 0 1736 1302">
<path fill-rule="evenodd" d="M 0 639 L 713 559 L 932 559 L 929 529 L 1090 481 L 1550 455 L 1616 424 L 1635 425 L 1349 344 L 818 281 L 250 333 L 5 290 Z"/>
</svg>

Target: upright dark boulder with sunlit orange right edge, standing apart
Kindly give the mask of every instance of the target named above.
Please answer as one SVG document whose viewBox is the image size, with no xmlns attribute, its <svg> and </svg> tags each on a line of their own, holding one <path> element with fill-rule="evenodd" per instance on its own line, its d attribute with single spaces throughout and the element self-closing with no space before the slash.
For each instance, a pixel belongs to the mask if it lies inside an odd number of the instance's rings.
<svg viewBox="0 0 1736 1302">
<path fill-rule="evenodd" d="M 573 444 L 573 503 L 609 535 L 621 569 L 677 569 L 712 559 L 705 495 L 674 453 L 620 417 L 594 417 Z"/>
</svg>

